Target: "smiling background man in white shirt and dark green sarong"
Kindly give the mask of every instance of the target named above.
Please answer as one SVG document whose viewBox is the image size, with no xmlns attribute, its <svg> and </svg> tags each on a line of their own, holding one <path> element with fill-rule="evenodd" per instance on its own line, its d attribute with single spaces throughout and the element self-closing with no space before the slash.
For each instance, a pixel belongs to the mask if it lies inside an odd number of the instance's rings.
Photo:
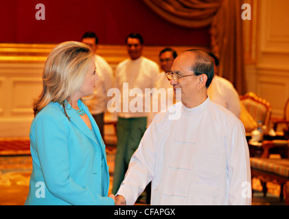
<svg viewBox="0 0 289 219">
<path fill-rule="evenodd" d="M 141 34 L 130 34 L 126 38 L 128 49 L 128 59 L 117 65 L 115 70 L 115 86 L 121 92 L 118 104 L 122 105 L 122 111 L 117 118 L 117 153 L 115 155 L 115 172 L 113 175 L 113 194 L 119 189 L 119 185 L 124 179 L 130 158 L 146 131 L 147 116 L 144 103 L 146 88 L 153 88 L 155 79 L 159 75 L 157 63 L 143 57 L 143 37 Z M 135 95 L 130 95 L 135 91 Z M 137 107 L 137 112 L 132 112 L 130 102 L 138 99 L 143 103 L 142 107 Z M 137 101 L 137 104 L 140 103 Z M 133 104 L 135 107 L 135 104 Z"/>
</svg>

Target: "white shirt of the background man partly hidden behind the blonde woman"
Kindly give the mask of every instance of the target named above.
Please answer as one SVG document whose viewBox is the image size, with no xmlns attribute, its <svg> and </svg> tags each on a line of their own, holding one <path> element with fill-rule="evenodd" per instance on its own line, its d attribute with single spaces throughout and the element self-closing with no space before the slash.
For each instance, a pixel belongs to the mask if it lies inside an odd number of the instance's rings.
<svg viewBox="0 0 289 219">
<path fill-rule="evenodd" d="M 108 96 L 107 92 L 113 88 L 113 68 L 100 55 L 95 54 L 96 74 L 99 79 L 95 83 L 95 90 L 92 99 L 86 101 L 91 114 L 101 114 L 106 112 Z"/>
</svg>

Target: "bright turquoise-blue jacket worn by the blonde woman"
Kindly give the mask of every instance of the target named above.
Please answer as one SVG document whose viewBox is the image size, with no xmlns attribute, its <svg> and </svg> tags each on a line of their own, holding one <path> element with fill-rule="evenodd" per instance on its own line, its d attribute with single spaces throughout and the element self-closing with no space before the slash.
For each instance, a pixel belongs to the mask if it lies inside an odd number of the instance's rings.
<svg viewBox="0 0 289 219">
<path fill-rule="evenodd" d="M 114 205 L 100 131 L 88 108 L 92 130 L 67 103 L 49 103 L 30 127 L 33 170 L 25 205 Z"/>
</svg>

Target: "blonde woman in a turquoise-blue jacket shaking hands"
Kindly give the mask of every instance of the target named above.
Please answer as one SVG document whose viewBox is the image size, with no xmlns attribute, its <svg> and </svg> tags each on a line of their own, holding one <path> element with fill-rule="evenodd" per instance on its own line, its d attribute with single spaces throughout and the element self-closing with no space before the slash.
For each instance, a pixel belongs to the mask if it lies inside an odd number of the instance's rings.
<svg viewBox="0 0 289 219">
<path fill-rule="evenodd" d="M 30 127 L 33 170 L 25 205 L 114 205 L 104 142 L 82 102 L 97 79 L 85 44 L 63 42 L 47 57 Z"/>
</svg>

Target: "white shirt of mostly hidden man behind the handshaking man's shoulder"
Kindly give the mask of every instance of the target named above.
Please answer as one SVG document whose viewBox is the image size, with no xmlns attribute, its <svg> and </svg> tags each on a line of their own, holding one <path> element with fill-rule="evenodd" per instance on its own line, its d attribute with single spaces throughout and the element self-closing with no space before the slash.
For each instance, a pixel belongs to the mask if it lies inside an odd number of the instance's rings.
<svg viewBox="0 0 289 219">
<path fill-rule="evenodd" d="M 233 112 L 235 116 L 240 118 L 240 97 L 230 81 L 215 75 L 208 88 L 208 95 L 211 101 L 225 107 L 227 110 Z"/>
</svg>

